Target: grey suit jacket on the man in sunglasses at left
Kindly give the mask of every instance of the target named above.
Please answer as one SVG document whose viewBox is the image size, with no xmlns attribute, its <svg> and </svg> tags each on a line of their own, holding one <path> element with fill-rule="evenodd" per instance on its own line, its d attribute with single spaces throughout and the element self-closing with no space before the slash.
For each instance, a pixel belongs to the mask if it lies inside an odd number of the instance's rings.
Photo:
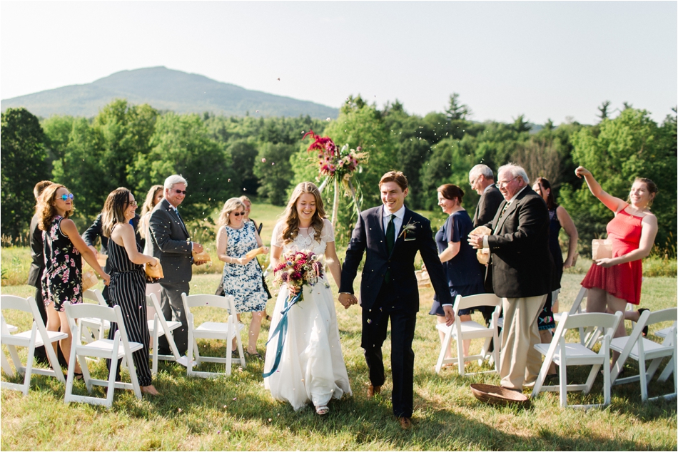
<svg viewBox="0 0 678 452">
<path fill-rule="evenodd" d="M 148 221 L 151 230 L 151 252 L 160 260 L 165 277 L 160 282 L 191 281 L 193 256 L 191 239 L 183 220 L 168 200 L 158 202 Z"/>
</svg>

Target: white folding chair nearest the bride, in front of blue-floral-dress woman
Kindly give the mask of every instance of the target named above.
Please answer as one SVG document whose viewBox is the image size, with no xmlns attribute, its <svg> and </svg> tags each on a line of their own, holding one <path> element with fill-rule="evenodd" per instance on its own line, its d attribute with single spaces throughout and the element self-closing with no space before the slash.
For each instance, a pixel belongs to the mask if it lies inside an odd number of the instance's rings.
<svg viewBox="0 0 678 452">
<path fill-rule="evenodd" d="M 219 297 L 218 295 L 186 295 L 181 294 L 183 299 L 183 309 L 186 309 L 186 319 L 188 320 L 188 365 L 186 366 L 186 374 L 188 376 L 201 376 L 203 378 L 213 378 L 221 375 L 231 375 L 231 366 L 233 364 L 231 357 L 231 341 L 236 338 L 238 342 L 238 356 L 241 366 L 245 366 L 245 354 L 243 353 L 243 342 L 240 337 L 240 330 L 243 329 L 243 324 L 237 320 L 236 304 L 233 301 L 233 296 L 227 295 Z M 198 327 L 195 324 L 195 318 L 191 312 L 192 308 L 196 307 L 213 307 L 228 309 L 228 319 L 226 322 L 203 322 Z M 197 339 L 221 339 L 226 341 L 226 357 L 216 356 L 202 356 L 198 351 Z M 194 356 L 195 355 L 195 356 Z M 193 359 L 195 358 L 195 361 Z M 197 366 L 202 362 L 224 363 L 226 370 L 224 374 L 220 372 L 206 372 L 195 371 L 193 366 Z"/>
</svg>

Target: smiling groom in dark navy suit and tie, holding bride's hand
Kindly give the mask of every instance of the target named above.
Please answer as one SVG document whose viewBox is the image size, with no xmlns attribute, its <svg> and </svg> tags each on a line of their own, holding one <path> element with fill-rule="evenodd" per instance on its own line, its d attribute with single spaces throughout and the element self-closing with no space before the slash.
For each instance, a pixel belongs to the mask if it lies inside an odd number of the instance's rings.
<svg viewBox="0 0 678 452">
<path fill-rule="evenodd" d="M 346 309 L 358 302 L 353 295 L 353 279 L 367 250 L 360 305 L 363 307 L 361 346 L 370 369 L 368 398 L 379 393 L 385 381 L 381 346 L 390 318 L 393 414 L 400 426 L 408 429 L 412 426 L 413 411 L 415 354 L 412 341 L 419 311 L 414 267 L 417 252 L 426 264 L 448 326 L 454 322 L 455 314 L 430 222 L 404 205 L 408 179 L 400 171 L 390 171 L 379 181 L 379 189 L 383 206 L 361 212 L 351 235 L 341 272 L 339 302 Z"/>
</svg>

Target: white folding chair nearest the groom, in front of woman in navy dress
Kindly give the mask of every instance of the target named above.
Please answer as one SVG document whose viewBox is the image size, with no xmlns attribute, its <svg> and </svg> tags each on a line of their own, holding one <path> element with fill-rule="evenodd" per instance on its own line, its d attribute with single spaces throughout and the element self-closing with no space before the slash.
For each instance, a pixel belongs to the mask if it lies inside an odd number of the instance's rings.
<svg viewBox="0 0 678 452">
<path fill-rule="evenodd" d="M 490 327 L 485 327 L 477 322 L 469 320 L 467 322 L 462 322 L 459 318 L 458 312 L 460 309 L 468 309 L 473 307 L 480 306 L 494 306 L 495 311 L 492 312 L 492 320 L 490 321 Z M 502 306 L 502 299 L 497 297 L 495 294 L 477 294 L 469 295 L 468 297 L 462 297 L 457 295 L 455 299 L 455 322 L 449 327 L 447 325 L 439 323 L 436 324 L 436 328 L 445 334 L 445 338 L 442 339 L 442 346 L 440 348 L 440 354 L 438 355 L 438 361 L 435 364 L 435 371 L 440 374 L 440 369 L 442 369 L 443 364 L 457 364 L 459 367 L 459 374 L 461 376 L 465 375 L 464 364 L 466 361 L 474 361 L 477 359 L 479 363 L 485 361 L 492 357 L 495 363 L 495 369 L 492 371 L 479 371 L 473 372 L 468 375 L 475 374 L 487 374 L 490 372 L 499 372 L 499 349 L 500 347 L 496 344 L 499 344 L 499 329 L 497 328 L 497 321 L 499 319 L 499 311 Z M 456 358 L 447 358 L 445 359 L 445 351 L 450 347 L 450 341 L 455 339 L 457 341 L 457 357 Z M 462 342 L 464 339 L 485 339 L 485 344 L 482 345 L 482 351 L 480 354 L 464 356 Z M 494 341 L 495 347 L 490 353 L 487 351 L 490 347 L 490 341 Z"/>
</svg>

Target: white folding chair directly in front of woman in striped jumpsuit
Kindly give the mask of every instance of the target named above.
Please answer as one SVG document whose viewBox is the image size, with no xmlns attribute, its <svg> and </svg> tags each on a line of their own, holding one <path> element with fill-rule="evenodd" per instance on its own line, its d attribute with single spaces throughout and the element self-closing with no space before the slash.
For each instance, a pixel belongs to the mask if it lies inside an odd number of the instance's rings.
<svg viewBox="0 0 678 452">
<path fill-rule="evenodd" d="M 123 322 L 122 310 L 119 306 L 106 307 L 98 304 L 80 303 L 70 304 L 64 303 L 66 307 L 66 317 L 69 319 L 71 327 L 71 336 L 73 342 L 71 344 L 71 358 L 69 359 L 69 376 L 66 379 L 66 394 L 64 401 L 66 404 L 71 402 L 84 402 L 92 405 L 103 405 L 110 407 L 113 405 L 113 393 L 116 389 L 131 389 L 134 391 L 137 399 L 141 399 L 141 388 L 136 377 L 136 369 L 134 368 L 134 361 L 132 353 L 143 348 L 143 344 L 138 342 L 130 342 L 127 338 L 127 330 Z M 82 324 L 78 326 L 76 319 L 83 317 L 91 317 L 93 319 L 106 320 L 108 322 L 115 322 L 118 324 L 113 339 L 97 339 L 89 344 L 84 344 L 82 341 Z M 96 358 L 106 358 L 111 360 L 111 370 L 108 371 L 108 380 L 93 379 L 89 374 L 87 367 L 87 356 L 95 356 Z M 106 398 L 93 396 L 79 396 L 73 394 L 73 380 L 75 373 L 76 359 L 79 361 L 82 368 L 82 376 L 87 386 L 89 394 L 92 392 L 92 386 L 104 386 L 107 389 Z M 126 364 L 129 369 L 129 376 L 131 383 L 123 383 L 116 381 L 116 364 L 118 359 L 122 359 L 122 364 Z"/>
</svg>

